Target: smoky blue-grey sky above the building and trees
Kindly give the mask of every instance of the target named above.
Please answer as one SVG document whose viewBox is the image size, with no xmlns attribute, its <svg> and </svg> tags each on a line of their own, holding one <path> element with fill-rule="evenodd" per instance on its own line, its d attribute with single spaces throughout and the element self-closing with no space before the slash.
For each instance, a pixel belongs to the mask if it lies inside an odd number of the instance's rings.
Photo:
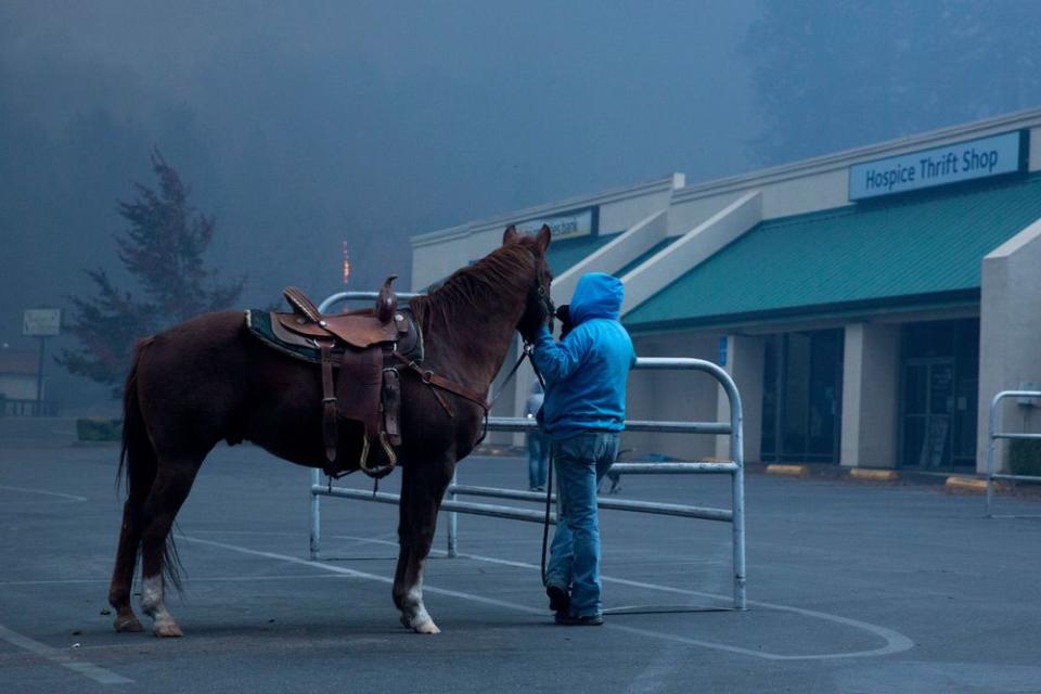
<svg viewBox="0 0 1041 694">
<path fill-rule="evenodd" d="M 750 144 L 762 16 L 753 0 L 0 4 L 0 343 L 31 347 L 23 309 L 89 292 L 81 269 L 121 278 L 115 202 L 154 184 L 153 145 L 216 216 L 208 262 L 247 274 L 244 307 L 339 290 L 343 240 L 352 288 L 390 272 L 408 288 L 413 234 L 779 163 Z"/>
</svg>

